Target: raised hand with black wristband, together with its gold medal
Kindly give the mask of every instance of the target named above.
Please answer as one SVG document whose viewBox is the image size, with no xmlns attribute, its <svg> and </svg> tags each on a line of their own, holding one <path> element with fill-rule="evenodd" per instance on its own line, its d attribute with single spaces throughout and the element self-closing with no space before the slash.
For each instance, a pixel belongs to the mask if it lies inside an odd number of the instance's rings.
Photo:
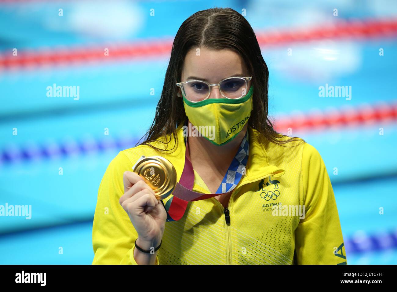
<svg viewBox="0 0 397 292">
<path fill-rule="evenodd" d="M 153 248 L 156 251 L 161 246 L 167 218 L 159 200 L 171 194 L 176 172 L 172 164 L 162 157 L 142 157 L 133 166 L 133 171 L 123 174 L 124 195 L 119 203 L 138 234 L 133 253 L 135 261 L 154 264 Z M 174 179 L 170 180 L 172 177 Z"/>
</svg>

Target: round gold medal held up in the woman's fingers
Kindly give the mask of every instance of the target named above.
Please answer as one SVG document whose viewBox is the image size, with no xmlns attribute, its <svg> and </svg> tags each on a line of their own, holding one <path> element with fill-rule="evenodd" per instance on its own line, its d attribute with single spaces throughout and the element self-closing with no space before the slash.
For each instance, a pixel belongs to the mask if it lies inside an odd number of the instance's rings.
<svg viewBox="0 0 397 292">
<path fill-rule="evenodd" d="M 176 186 L 176 170 L 172 163 L 161 156 L 147 156 L 139 160 L 133 167 L 156 193 L 158 200 L 171 195 Z"/>
</svg>

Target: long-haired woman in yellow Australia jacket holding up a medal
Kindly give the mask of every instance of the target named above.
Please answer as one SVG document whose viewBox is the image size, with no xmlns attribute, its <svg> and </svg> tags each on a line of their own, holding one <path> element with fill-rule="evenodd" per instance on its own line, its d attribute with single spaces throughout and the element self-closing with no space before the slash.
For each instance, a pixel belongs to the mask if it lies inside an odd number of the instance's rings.
<svg viewBox="0 0 397 292">
<path fill-rule="evenodd" d="M 153 155 L 180 182 L 190 160 L 191 190 L 210 195 L 158 201 L 132 172 Z M 93 264 L 346 264 L 324 162 L 273 129 L 268 68 L 236 11 L 182 23 L 147 139 L 120 151 L 102 178 L 93 248 Z"/>
</svg>

